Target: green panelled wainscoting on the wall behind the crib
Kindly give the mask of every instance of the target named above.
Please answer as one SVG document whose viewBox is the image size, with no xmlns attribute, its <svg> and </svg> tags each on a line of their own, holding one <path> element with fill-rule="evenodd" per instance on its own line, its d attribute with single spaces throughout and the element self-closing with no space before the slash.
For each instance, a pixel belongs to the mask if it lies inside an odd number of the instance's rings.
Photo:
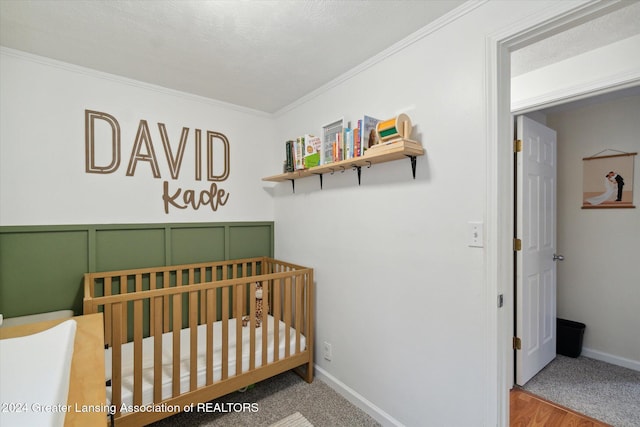
<svg viewBox="0 0 640 427">
<path fill-rule="evenodd" d="M 4 226 L 0 313 L 82 314 L 89 271 L 256 256 L 274 256 L 273 222 Z"/>
</svg>

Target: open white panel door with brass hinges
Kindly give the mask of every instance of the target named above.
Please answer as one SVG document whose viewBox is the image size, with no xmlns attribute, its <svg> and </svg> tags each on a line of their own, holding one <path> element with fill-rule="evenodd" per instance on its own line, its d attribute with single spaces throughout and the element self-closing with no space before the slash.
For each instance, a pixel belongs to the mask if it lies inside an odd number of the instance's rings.
<svg viewBox="0 0 640 427">
<path fill-rule="evenodd" d="M 556 133 L 517 118 L 516 383 L 524 385 L 556 356 Z"/>
</svg>

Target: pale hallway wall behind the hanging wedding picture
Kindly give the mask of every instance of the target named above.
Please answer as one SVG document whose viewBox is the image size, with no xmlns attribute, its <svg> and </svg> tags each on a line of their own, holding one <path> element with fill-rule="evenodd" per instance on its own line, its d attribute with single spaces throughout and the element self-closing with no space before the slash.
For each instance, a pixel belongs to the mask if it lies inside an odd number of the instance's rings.
<svg viewBox="0 0 640 427">
<path fill-rule="evenodd" d="M 558 135 L 558 316 L 587 325 L 587 355 L 640 367 L 640 170 L 636 209 L 581 209 L 583 158 L 640 152 L 640 96 L 550 114 Z M 619 154 L 615 151 L 602 153 Z M 627 187 L 628 188 L 628 187 Z M 596 354 L 589 354 L 589 350 Z"/>
</svg>

